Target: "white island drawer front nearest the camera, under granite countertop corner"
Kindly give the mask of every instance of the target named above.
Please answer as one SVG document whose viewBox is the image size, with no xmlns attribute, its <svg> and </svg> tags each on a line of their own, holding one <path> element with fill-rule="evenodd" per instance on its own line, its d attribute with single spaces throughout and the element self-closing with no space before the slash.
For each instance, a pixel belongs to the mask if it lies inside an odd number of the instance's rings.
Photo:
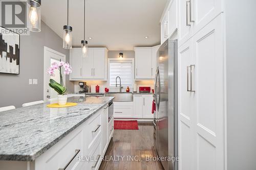
<svg viewBox="0 0 256 170">
<path fill-rule="evenodd" d="M 77 160 L 76 156 L 81 155 L 83 155 L 82 128 L 78 128 L 38 157 L 35 160 L 35 170 L 60 169 L 66 166 L 67 170 L 79 170 L 82 169 L 83 163 Z"/>
</svg>

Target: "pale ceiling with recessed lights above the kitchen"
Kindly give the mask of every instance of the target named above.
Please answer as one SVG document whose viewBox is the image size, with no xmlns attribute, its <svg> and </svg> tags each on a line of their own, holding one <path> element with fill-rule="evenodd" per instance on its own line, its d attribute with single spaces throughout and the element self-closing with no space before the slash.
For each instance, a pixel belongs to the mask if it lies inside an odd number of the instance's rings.
<svg viewBox="0 0 256 170">
<path fill-rule="evenodd" d="M 160 18 L 167 0 L 86 0 L 86 40 L 89 47 L 133 50 L 160 44 Z M 83 39 L 83 0 L 70 0 L 69 25 L 73 46 Z M 60 37 L 67 25 L 67 0 L 44 0 L 41 19 Z M 148 38 L 144 38 L 147 36 Z M 89 37 L 92 37 L 90 40 Z"/>
</svg>

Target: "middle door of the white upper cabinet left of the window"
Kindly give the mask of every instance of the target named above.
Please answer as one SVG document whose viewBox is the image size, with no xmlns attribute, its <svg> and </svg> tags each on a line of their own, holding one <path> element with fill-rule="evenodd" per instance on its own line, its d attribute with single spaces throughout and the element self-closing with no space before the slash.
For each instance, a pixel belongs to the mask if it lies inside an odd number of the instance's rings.
<svg viewBox="0 0 256 170">
<path fill-rule="evenodd" d="M 86 58 L 82 58 L 82 79 L 93 79 L 93 49 L 88 48 Z"/>
</svg>

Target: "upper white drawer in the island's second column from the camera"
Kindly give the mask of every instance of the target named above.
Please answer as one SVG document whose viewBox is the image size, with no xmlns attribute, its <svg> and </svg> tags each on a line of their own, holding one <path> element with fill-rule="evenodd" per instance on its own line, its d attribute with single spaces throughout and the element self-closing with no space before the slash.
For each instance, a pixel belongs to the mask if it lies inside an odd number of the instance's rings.
<svg viewBox="0 0 256 170">
<path fill-rule="evenodd" d="M 95 142 L 97 136 L 100 135 L 101 132 L 101 112 L 100 110 L 96 115 L 93 115 L 88 119 L 87 128 L 84 130 L 84 137 L 86 140 L 87 150 L 90 150 L 93 143 Z"/>
</svg>

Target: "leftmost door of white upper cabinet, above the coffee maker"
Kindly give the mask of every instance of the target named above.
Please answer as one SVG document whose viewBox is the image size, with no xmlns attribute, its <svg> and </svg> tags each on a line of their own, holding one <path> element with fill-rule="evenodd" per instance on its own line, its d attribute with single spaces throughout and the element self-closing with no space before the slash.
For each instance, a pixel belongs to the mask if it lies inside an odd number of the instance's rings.
<svg viewBox="0 0 256 170">
<path fill-rule="evenodd" d="M 70 74 L 71 79 L 81 79 L 82 77 L 82 52 L 81 48 L 72 48 L 70 50 L 70 64 L 73 71 Z"/>
</svg>

